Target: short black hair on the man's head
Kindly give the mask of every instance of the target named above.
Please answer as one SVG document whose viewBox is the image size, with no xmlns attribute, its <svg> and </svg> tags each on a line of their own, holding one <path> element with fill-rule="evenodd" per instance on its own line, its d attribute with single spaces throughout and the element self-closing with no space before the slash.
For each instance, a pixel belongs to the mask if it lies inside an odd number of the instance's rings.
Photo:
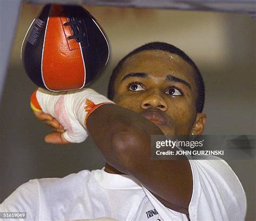
<svg viewBox="0 0 256 221">
<path fill-rule="evenodd" d="M 203 111 L 203 108 L 204 108 L 205 86 L 204 86 L 203 77 L 201 76 L 201 73 L 200 73 L 198 67 L 192 61 L 192 59 L 190 57 L 188 57 L 179 48 L 177 48 L 173 45 L 164 43 L 164 42 L 151 42 L 151 43 L 145 44 L 143 46 L 140 46 L 140 47 L 134 49 L 134 51 L 127 54 L 122 60 L 120 60 L 117 64 L 117 66 L 113 69 L 112 75 L 110 77 L 109 88 L 108 88 L 108 91 L 107 91 L 107 97 L 111 100 L 113 99 L 113 97 L 114 97 L 114 83 L 115 83 L 117 75 L 119 74 L 120 69 L 122 68 L 122 65 L 126 61 L 126 59 L 129 58 L 130 56 L 134 55 L 134 54 L 137 54 L 139 52 L 146 51 L 146 50 L 161 50 L 161 51 L 166 51 L 166 52 L 170 52 L 172 54 L 179 55 L 187 63 L 189 63 L 192 66 L 192 68 L 194 68 L 195 73 L 196 73 L 194 75 L 194 78 L 196 80 L 197 89 L 198 89 L 197 90 L 198 93 L 197 93 L 196 110 L 197 110 L 198 113 L 201 113 Z"/>
</svg>

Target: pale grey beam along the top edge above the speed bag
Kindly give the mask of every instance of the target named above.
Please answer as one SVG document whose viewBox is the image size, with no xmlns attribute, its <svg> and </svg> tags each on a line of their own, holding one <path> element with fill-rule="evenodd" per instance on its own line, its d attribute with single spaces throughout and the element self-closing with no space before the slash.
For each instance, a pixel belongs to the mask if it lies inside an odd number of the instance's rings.
<svg viewBox="0 0 256 221">
<path fill-rule="evenodd" d="M 231 13 L 247 13 L 256 16 L 256 0 L 204 0 L 204 1 L 175 1 L 175 0 L 25 0 L 34 4 L 61 3 L 61 4 L 87 4 L 99 6 L 154 8 L 173 10 L 196 10 Z"/>
</svg>

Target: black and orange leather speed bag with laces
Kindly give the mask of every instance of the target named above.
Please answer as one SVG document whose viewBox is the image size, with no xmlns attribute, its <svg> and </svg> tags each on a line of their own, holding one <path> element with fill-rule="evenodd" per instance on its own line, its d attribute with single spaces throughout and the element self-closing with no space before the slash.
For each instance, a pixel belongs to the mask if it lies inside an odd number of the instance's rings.
<svg viewBox="0 0 256 221">
<path fill-rule="evenodd" d="M 82 6 L 44 6 L 22 46 L 26 73 L 38 87 L 51 91 L 85 87 L 108 59 L 105 34 Z"/>
</svg>

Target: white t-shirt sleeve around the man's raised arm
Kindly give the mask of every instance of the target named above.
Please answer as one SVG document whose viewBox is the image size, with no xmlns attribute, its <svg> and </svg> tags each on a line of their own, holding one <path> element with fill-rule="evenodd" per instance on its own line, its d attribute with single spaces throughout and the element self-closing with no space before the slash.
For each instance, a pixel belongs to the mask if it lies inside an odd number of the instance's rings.
<svg viewBox="0 0 256 221">
<path fill-rule="evenodd" d="M 216 156 L 192 157 L 193 192 L 188 212 L 191 221 L 242 221 L 246 215 L 246 196 L 231 167 Z M 163 220 L 187 220 L 183 213 L 166 208 L 143 187 Z"/>
</svg>

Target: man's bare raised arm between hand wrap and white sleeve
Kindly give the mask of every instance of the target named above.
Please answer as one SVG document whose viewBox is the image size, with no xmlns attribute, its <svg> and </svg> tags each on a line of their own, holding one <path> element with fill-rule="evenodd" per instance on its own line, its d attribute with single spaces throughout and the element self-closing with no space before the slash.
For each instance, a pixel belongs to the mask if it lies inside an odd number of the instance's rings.
<svg viewBox="0 0 256 221">
<path fill-rule="evenodd" d="M 161 203 L 188 213 L 192 173 L 186 159 L 152 160 L 151 135 L 163 134 L 152 122 L 117 105 L 103 105 L 87 119 L 87 129 L 114 168 L 132 175 Z"/>
</svg>

